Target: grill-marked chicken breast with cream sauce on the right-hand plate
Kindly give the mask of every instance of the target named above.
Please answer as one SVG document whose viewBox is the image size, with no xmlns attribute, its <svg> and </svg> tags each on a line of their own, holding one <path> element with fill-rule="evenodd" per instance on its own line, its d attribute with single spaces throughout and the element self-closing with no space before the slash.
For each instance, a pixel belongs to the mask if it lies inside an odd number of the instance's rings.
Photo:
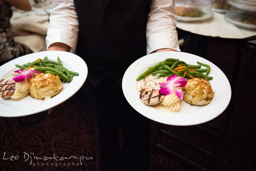
<svg viewBox="0 0 256 171">
<path fill-rule="evenodd" d="M 140 85 L 140 99 L 145 105 L 156 105 L 164 99 L 165 95 L 159 94 L 162 86 L 160 79 L 144 78 L 143 83 Z"/>
</svg>

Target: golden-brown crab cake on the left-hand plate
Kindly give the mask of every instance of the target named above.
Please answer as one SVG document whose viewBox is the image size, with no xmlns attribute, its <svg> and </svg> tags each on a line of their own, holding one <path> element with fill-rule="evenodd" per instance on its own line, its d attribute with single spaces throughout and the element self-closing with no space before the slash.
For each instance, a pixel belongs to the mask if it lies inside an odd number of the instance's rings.
<svg viewBox="0 0 256 171">
<path fill-rule="evenodd" d="M 58 76 L 51 73 L 40 73 L 30 79 L 30 95 L 36 99 L 48 100 L 62 89 L 62 82 Z"/>
</svg>

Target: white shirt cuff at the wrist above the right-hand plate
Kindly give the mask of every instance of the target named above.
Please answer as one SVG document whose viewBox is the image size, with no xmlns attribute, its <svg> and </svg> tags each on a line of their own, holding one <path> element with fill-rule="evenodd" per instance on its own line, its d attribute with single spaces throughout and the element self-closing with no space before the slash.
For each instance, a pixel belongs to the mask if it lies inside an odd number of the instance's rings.
<svg viewBox="0 0 256 171">
<path fill-rule="evenodd" d="M 155 33 L 147 37 L 147 54 L 163 48 L 171 48 L 176 51 L 181 51 L 178 45 L 177 32 L 175 32 L 175 34 Z"/>
</svg>

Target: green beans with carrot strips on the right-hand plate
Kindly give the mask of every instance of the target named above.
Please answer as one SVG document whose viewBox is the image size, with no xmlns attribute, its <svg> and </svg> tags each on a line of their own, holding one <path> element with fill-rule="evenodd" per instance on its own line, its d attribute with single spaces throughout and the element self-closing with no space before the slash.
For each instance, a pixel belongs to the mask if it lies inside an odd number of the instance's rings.
<svg viewBox="0 0 256 171">
<path fill-rule="evenodd" d="M 213 79 L 213 77 L 208 76 L 210 72 L 209 65 L 201 62 L 197 62 L 197 64 L 199 65 L 190 65 L 178 59 L 168 58 L 165 61 L 161 61 L 158 64 L 149 67 L 148 70 L 142 73 L 136 80 L 139 81 L 150 74 L 157 76 L 157 78 L 177 75 L 186 78 L 187 80 L 192 78 L 203 78 L 207 81 Z M 202 69 L 201 66 L 206 68 Z"/>
</svg>

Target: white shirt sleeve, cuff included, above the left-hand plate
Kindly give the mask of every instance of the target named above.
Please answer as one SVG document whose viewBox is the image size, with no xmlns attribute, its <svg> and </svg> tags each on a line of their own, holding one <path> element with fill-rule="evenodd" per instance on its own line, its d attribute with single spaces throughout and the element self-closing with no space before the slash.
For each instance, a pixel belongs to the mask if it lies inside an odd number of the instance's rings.
<svg viewBox="0 0 256 171">
<path fill-rule="evenodd" d="M 47 30 L 46 46 L 56 42 L 67 44 L 71 51 L 76 49 L 78 19 L 73 0 L 54 0 L 51 6 L 50 24 Z"/>
</svg>

